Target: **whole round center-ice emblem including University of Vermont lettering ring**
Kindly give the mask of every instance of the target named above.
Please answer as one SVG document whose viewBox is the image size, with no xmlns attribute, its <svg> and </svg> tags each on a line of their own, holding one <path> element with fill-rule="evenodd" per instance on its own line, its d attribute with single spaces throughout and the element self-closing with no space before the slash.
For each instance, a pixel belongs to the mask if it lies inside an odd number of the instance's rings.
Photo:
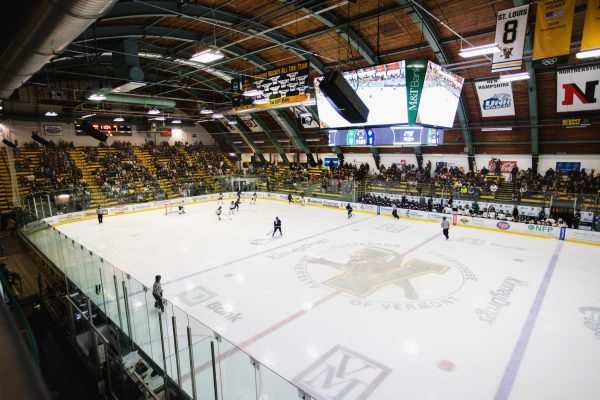
<svg viewBox="0 0 600 400">
<path fill-rule="evenodd" d="M 465 283 L 463 270 L 431 258 L 405 257 L 393 243 L 349 243 L 331 246 L 319 257 L 304 257 L 295 270 L 306 284 L 343 293 L 353 305 L 418 310 L 455 303 L 453 295 Z"/>
</svg>

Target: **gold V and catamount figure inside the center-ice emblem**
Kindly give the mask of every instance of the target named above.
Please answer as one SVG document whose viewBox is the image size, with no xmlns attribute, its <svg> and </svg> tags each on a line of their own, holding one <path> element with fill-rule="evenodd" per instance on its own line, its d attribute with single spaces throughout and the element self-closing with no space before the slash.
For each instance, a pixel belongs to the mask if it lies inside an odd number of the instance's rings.
<svg viewBox="0 0 600 400">
<path fill-rule="evenodd" d="M 363 247 L 355 250 L 348 262 L 339 263 L 324 258 L 311 259 L 314 264 L 326 265 L 342 272 L 323 282 L 324 285 L 358 297 L 367 297 L 379 289 L 394 285 L 401 288 L 404 297 L 418 300 L 419 294 L 411 279 L 421 276 L 445 274 L 449 267 L 425 260 L 403 262 L 402 255 L 380 247 Z"/>
</svg>

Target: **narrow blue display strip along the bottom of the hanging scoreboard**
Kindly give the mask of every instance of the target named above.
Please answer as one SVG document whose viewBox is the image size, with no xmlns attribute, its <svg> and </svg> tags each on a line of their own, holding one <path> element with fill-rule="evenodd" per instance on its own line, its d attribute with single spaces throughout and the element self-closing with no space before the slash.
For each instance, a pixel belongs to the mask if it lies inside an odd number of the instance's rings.
<svg viewBox="0 0 600 400">
<path fill-rule="evenodd" d="M 443 142 L 443 130 L 423 126 L 329 130 L 329 146 L 436 146 Z"/>
</svg>

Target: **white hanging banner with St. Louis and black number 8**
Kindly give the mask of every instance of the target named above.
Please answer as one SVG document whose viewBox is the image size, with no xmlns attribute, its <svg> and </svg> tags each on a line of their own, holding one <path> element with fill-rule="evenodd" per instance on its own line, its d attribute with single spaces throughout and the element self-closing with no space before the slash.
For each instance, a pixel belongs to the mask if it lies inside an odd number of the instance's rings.
<svg viewBox="0 0 600 400">
<path fill-rule="evenodd" d="M 492 72 L 521 68 L 528 14 L 529 5 L 498 12 L 495 43 L 501 52 L 494 53 Z"/>
</svg>

